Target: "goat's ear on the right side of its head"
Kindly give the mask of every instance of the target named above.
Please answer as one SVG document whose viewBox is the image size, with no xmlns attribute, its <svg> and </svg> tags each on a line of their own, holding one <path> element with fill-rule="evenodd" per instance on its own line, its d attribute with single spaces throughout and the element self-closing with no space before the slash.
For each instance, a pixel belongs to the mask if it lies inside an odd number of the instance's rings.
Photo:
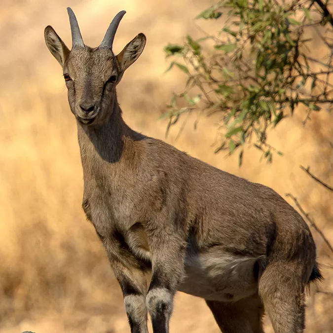
<svg viewBox="0 0 333 333">
<path fill-rule="evenodd" d="M 146 45 L 146 36 L 139 34 L 133 38 L 117 55 L 121 71 L 127 70 L 141 55 Z"/>
</svg>

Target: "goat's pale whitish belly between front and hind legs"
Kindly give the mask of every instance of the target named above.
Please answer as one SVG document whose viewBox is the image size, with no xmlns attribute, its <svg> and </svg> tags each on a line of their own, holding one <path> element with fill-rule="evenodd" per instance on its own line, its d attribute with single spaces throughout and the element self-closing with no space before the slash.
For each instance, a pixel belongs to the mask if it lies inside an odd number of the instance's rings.
<svg viewBox="0 0 333 333">
<path fill-rule="evenodd" d="M 222 254 L 188 254 L 185 277 L 179 291 L 208 300 L 237 301 L 258 291 L 256 262 L 249 258 Z"/>
</svg>

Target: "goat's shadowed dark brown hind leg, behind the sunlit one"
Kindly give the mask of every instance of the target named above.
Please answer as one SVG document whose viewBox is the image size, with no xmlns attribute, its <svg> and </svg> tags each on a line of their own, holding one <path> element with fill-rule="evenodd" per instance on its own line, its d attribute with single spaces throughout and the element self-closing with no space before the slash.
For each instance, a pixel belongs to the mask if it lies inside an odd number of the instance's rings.
<svg viewBox="0 0 333 333">
<path fill-rule="evenodd" d="M 237 302 L 206 303 L 223 333 L 263 333 L 263 306 L 258 295 Z"/>
</svg>

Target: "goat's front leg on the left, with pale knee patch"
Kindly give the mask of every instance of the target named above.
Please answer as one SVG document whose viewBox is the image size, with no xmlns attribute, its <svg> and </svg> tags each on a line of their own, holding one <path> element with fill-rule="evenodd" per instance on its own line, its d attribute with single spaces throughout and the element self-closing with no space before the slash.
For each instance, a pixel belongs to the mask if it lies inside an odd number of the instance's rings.
<svg viewBox="0 0 333 333">
<path fill-rule="evenodd" d="M 114 244 L 113 244 L 114 245 Z M 123 296 L 131 333 L 148 333 L 147 327 L 147 280 L 145 272 L 130 253 L 115 252 L 114 247 L 106 247 L 109 261 L 117 278 Z"/>
</svg>

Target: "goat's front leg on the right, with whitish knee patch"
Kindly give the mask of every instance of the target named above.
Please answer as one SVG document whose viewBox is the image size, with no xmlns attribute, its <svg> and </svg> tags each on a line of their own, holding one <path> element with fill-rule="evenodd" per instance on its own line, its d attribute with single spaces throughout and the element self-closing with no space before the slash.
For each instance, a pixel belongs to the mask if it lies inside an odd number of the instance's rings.
<svg viewBox="0 0 333 333">
<path fill-rule="evenodd" d="M 165 229 L 163 230 L 163 232 Z M 184 241 L 176 233 L 149 240 L 152 275 L 146 297 L 154 333 L 168 333 L 173 300 L 184 275 Z"/>
</svg>

